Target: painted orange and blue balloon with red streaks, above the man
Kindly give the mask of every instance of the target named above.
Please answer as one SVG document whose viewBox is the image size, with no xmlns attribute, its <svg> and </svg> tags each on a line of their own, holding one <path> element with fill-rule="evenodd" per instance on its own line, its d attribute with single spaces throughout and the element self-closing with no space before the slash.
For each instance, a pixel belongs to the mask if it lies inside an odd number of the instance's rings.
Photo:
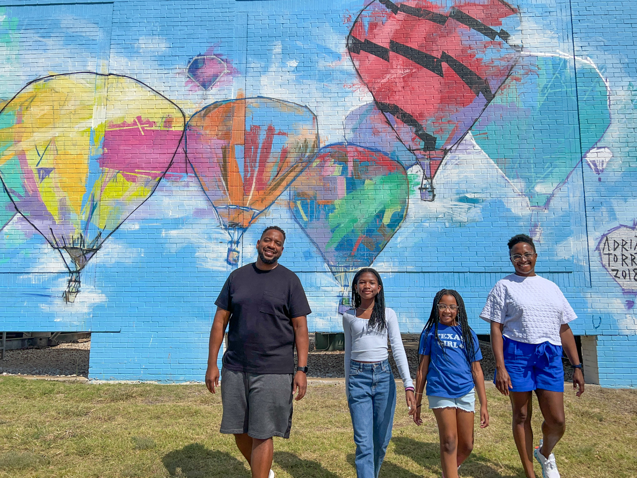
<svg viewBox="0 0 637 478">
<path fill-rule="evenodd" d="M 303 171 L 317 146 L 314 113 L 279 99 L 219 101 L 192 115 L 188 163 L 230 237 L 233 268 L 245 230 Z"/>
</svg>

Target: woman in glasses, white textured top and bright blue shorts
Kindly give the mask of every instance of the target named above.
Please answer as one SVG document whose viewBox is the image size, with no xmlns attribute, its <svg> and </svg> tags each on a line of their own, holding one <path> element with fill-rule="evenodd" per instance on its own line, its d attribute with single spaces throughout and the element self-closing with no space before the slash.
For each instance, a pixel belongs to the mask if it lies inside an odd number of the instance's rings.
<svg viewBox="0 0 637 478">
<path fill-rule="evenodd" d="M 568 326 L 577 316 L 559 287 L 536 275 L 538 254 L 533 239 L 519 234 L 508 247 L 515 273 L 496 283 L 480 314 L 491 323 L 494 383 L 503 395 L 510 396 L 513 438 L 527 478 L 535 478 L 533 456 L 542 467 L 543 478 L 559 478 L 552 450 L 565 430 L 562 350 L 574 368 L 573 389 L 579 387 L 576 395 L 584 391 L 582 365 Z M 535 449 L 533 391 L 544 417 L 543 439 Z"/>
</svg>

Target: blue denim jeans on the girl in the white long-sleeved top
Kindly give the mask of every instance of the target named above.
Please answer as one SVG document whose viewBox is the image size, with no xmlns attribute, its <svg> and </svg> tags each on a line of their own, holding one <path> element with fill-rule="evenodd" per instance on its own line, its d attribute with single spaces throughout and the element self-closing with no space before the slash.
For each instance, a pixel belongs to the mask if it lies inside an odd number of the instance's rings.
<svg viewBox="0 0 637 478">
<path fill-rule="evenodd" d="M 396 410 L 396 382 L 389 361 L 360 363 L 352 360 L 347 403 L 354 426 L 356 475 L 358 478 L 378 478 L 392 437 Z"/>
</svg>

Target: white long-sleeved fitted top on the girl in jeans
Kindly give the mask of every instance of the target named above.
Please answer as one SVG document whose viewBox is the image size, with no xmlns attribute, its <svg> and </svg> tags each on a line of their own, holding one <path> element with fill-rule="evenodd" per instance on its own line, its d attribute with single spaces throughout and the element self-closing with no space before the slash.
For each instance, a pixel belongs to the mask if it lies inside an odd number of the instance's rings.
<svg viewBox="0 0 637 478">
<path fill-rule="evenodd" d="M 382 332 L 370 329 L 368 319 L 356 317 L 354 309 L 343 314 L 343 330 L 345 331 L 345 384 L 350 382 L 350 360 L 358 362 L 382 362 L 389 357 L 387 337 L 392 345 L 392 355 L 398 367 L 404 387 L 413 387 L 409 374 L 407 355 L 404 353 L 403 339 L 398 328 L 396 312 L 385 307 L 387 329 Z"/>
</svg>

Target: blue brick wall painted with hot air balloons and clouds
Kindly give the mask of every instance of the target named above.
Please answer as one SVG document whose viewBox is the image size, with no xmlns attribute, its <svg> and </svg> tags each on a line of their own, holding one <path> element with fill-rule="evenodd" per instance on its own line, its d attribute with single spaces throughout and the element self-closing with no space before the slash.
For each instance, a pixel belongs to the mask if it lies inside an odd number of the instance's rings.
<svg viewBox="0 0 637 478">
<path fill-rule="evenodd" d="M 512 5 L 0 5 L 0 329 L 93 331 L 94 378 L 201 380 L 218 291 L 278 224 L 311 331 L 371 264 L 404 333 L 441 287 L 488 333 L 529 233 L 600 382 L 634 386 L 631 5 Z"/>
</svg>

